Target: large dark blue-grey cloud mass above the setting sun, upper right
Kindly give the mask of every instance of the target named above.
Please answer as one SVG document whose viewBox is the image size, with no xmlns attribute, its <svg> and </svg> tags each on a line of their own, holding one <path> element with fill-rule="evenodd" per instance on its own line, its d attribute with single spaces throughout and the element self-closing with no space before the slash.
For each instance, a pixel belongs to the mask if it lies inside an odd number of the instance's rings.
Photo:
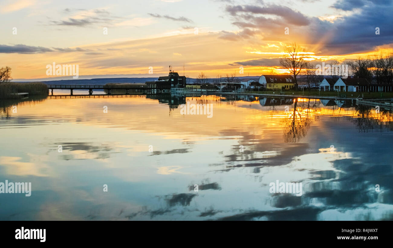
<svg viewBox="0 0 393 248">
<path fill-rule="evenodd" d="M 376 46 L 393 43 L 392 0 L 339 0 L 333 6 L 337 9 L 359 11 L 352 15 L 336 18 L 333 22 L 306 17 L 303 14 L 280 5 L 228 5 L 226 12 L 232 16 L 232 24 L 240 32 L 222 31 L 220 38 L 226 40 L 249 39 L 255 35 L 263 41 L 307 40 L 307 46 L 319 46 L 324 55 L 345 55 L 366 52 Z M 276 18 L 272 17 L 277 16 Z M 289 27 L 290 35 L 284 34 Z M 380 35 L 375 34 L 376 27 Z M 258 38 L 258 37 L 257 37 Z M 296 40 L 299 42 L 299 40 Z"/>
</svg>

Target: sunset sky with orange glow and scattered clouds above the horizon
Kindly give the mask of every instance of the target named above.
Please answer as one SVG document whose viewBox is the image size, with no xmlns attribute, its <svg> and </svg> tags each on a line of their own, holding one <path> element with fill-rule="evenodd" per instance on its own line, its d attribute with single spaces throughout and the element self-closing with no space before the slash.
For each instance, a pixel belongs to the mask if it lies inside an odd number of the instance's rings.
<svg viewBox="0 0 393 248">
<path fill-rule="evenodd" d="M 287 72 L 279 58 L 292 42 L 314 64 L 393 48 L 393 0 L 0 0 L 0 6 L 0 67 L 11 67 L 14 80 L 55 80 L 60 76 L 46 73 L 53 62 L 78 65 L 80 78 L 158 77 L 169 65 L 181 75 L 184 66 L 194 78 L 260 76 Z"/>
</svg>

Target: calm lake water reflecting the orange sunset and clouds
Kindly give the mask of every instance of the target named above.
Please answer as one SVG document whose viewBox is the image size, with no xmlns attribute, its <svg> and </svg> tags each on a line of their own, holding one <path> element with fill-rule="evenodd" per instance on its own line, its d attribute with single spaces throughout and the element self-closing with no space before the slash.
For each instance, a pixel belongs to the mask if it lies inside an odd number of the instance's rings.
<svg viewBox="0 0 393 248">
<path fill-rule="evenodd" d="M 187 102 L 212 104 L 211 118 L 182 115 Z M 0 115 L 0 182 L 32 187 L 0 194 L 1 220 L 393 219 L 383 109 L 136 95 L 3 102 Z M 271 193 L 277 180 L 302 195 Z"/>
</svg>

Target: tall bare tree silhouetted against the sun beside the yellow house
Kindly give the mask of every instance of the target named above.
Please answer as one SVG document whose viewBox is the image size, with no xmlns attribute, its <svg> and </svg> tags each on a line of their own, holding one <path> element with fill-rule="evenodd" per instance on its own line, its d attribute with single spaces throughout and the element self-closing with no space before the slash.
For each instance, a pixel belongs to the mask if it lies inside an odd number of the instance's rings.
<svg viewBox="0 0 393 248">
<path fill-rule="evenodd" d="M 280 58 L 280 64 L 285 69 L 289 71 L 294 76 L 294 84 L 295 90 L 298 90 L 298 80 L 296 76 L 300 73 L 300 71 L 304 68 L 306 61 L 303 60 L 303 53 L 305 49 L 296 44 L 296 42 L 292 44 L 287 44 L 285 48 L 285 53 L 287 53 L 287 57 Z"/>
</svg>

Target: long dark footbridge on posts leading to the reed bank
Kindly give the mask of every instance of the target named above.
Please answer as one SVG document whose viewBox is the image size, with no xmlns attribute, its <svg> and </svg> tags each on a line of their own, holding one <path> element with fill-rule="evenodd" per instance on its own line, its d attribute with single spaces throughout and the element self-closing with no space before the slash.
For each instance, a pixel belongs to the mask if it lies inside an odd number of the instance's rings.
<svg viewBox="0 0 393 248">
<path fill-rule="evenodd" d="M 74 89 L 87 89 L 89 91 L 89 95 L 93 94 L 93 89 L 106 89 L 108 91 L 108 95 L 112 94 L 113 89 L 125 89 L 126 94 L 130 93 L 130 89 L 135 89 L 137 91 L 146 90 L 145 85 L 133 85 L 133 84 L 124 84 L 124 85 L 71 85 L 71 84 L 48 84 L 48 89 L 51 90 L 51 94 L 53 95 L 53 89 L 69 89 L 71 91 L 71 95 L 73 95 Z"/>
</svg>

